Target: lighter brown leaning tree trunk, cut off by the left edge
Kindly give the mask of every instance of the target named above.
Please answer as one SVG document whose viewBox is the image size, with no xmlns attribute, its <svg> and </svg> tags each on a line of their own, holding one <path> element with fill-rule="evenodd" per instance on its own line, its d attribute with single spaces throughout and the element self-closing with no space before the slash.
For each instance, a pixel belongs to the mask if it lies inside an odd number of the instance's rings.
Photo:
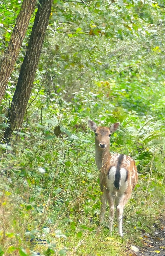
<svg viewBox="0 0 165 256">
<path fill-rule="evenodd" d="M 22 46 L 22 41 L 25 37 L 27 27 L 31 15 L 34 11 L 36 0 L 23 0 L 20 12 L 17 16 L 17 20 L 11 34 L 11 39 L 8 44 L 6 53 L 2 59 L 0 67 L 0 102 L 5 94 L 8 79 L 13 70 L 18 53 Z"/>
</svg>

